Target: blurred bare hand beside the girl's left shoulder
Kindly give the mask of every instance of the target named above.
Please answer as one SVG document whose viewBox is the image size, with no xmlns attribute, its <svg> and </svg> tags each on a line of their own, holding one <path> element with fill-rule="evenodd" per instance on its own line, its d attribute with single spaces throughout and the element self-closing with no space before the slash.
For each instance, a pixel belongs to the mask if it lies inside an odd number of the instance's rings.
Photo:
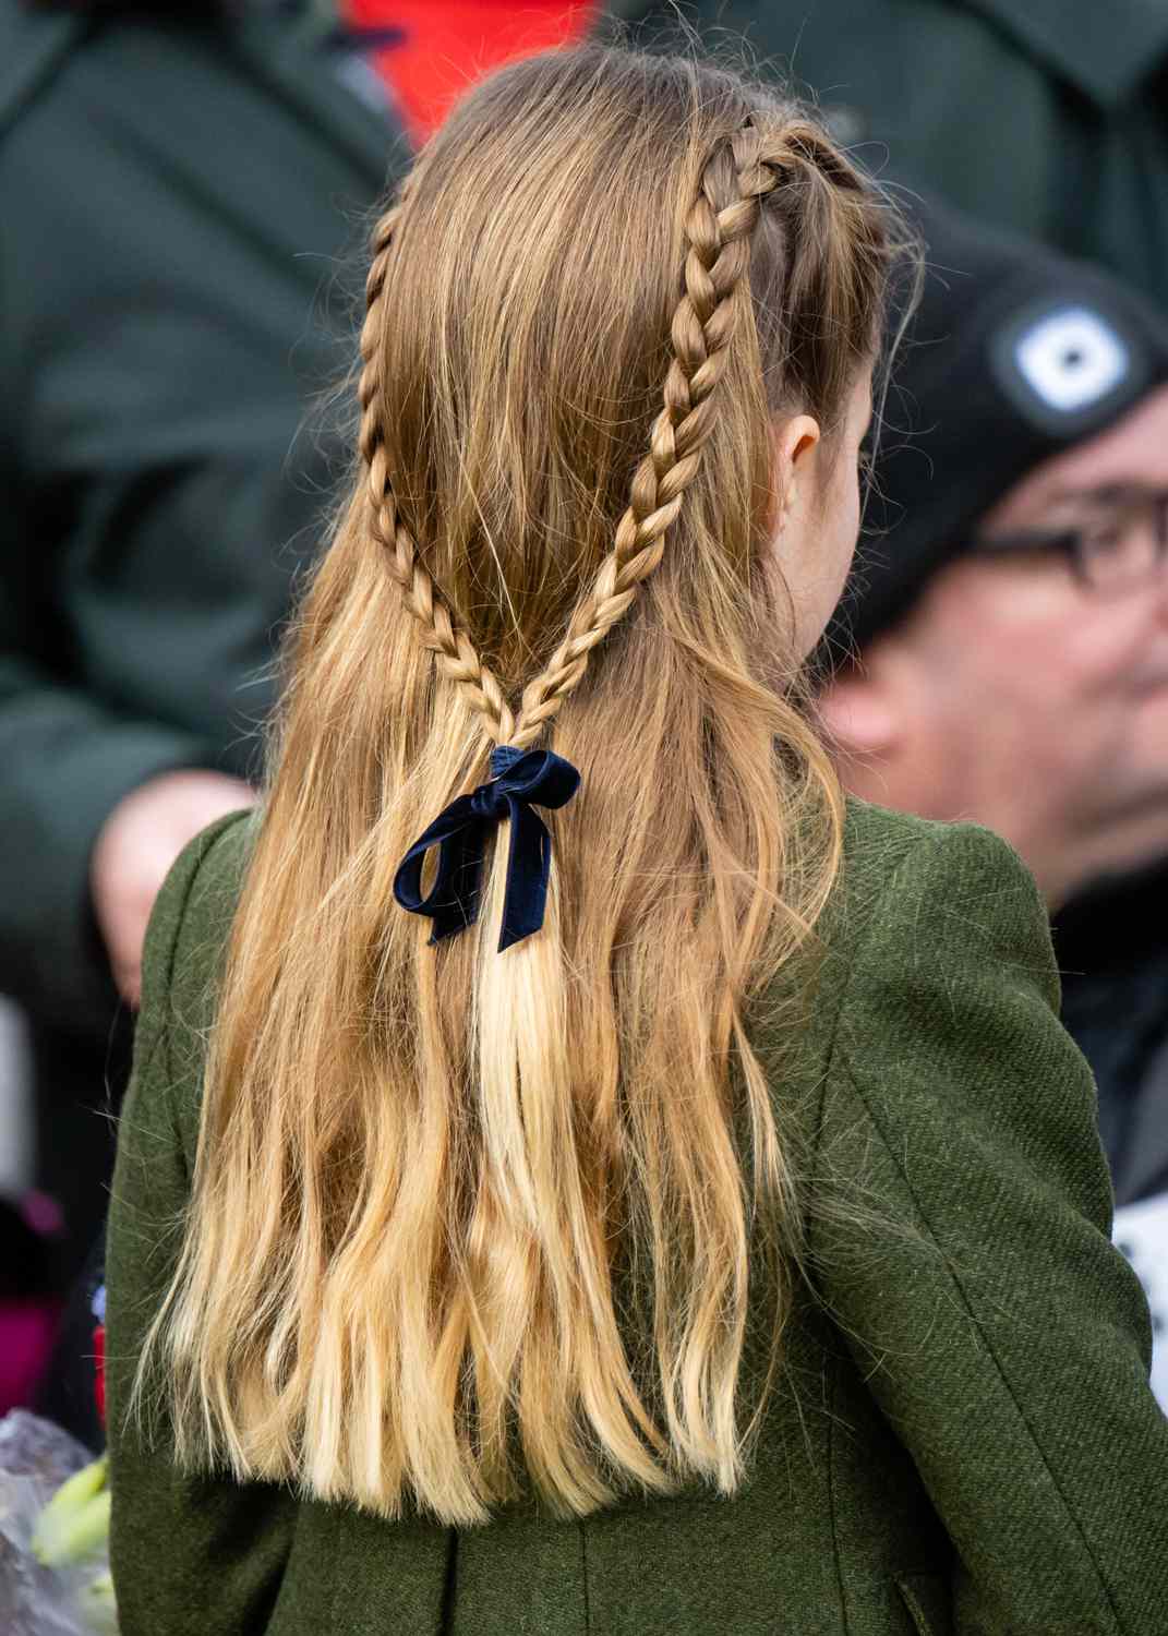
<svg viewBox="0 0 1168 1636">
<path fill-rule="evenodd" d="M 90 890 L 113 980 L 137 1006 L 142 944 L 159 887 L 186 843 L 216 818 L 255 803 L 255 790 L 222 772 L 164 772 L 126 795 L 93 846 Z"/>
</svg>

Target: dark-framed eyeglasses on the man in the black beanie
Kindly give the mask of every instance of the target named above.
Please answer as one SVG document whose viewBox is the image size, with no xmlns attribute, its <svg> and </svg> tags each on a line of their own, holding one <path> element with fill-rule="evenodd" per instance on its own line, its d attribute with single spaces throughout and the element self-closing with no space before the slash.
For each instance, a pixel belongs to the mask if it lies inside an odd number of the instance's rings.
<svg viewBox="0 0 1168 1636">
<path fill-rule="evenodd" d="M 1081 586 L 1119 596 L 1155 579 L 1168 561 L 1168 491 L 1116 494 L 1075 527 L 978 537 L 967 550 L 977 556 L 1058 551 Z"/>
</svg>

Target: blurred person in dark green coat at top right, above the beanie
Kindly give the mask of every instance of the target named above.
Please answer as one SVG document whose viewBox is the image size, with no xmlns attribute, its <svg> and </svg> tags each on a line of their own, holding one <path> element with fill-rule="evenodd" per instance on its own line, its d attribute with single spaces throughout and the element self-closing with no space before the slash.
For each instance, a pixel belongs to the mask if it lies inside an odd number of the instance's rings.
<svg viewBox="0 0 1168 1636">
<path fill-rule="evenodd" d="M 723 21 L 779 52 L 870 167 L 887 151 L 900 182 L 1168 308 L 1168 7 L 769 0 Z"/>
</svg>

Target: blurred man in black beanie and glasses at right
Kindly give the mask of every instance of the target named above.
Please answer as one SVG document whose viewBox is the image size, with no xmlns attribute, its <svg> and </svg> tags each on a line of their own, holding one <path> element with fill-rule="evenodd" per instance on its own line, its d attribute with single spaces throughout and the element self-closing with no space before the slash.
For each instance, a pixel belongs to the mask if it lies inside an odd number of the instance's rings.
<svg viewBox="0 0 1168 1636">
<path fill-rule="evenodd" d="M 823 718 L 847 789 L 996 829 L 1068 906 L 1117 1199 L 1168 1199 L 1168 322 L 1031 242 L 924 232 Z"/>
</svg>

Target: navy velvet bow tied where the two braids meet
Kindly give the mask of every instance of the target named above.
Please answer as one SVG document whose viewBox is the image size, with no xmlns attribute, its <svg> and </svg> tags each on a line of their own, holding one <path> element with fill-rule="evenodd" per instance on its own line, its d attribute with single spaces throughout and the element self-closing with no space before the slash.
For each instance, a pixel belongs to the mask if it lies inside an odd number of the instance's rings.
<svg viewBox="0 0 1168 1636">
<path fill-rule="evenodd" d="M 551 836 L 532 807 L 563 807 L 579 782 L 571 761 L 550 749 L 499 744 L 491 751 L 491 782 L 460 795 L 438 813 L 394 875 L 393 895 L 401 906 L 434 921 L 430 942 L 478 919 L 487 828 L 502 818 L 510 820 L 510 844 L 499 952 L 540 929 L 548 901 Z M 438 847 L 438 872 L 422 897 L 422 865 L 432 846 Z"/>
</svg>

